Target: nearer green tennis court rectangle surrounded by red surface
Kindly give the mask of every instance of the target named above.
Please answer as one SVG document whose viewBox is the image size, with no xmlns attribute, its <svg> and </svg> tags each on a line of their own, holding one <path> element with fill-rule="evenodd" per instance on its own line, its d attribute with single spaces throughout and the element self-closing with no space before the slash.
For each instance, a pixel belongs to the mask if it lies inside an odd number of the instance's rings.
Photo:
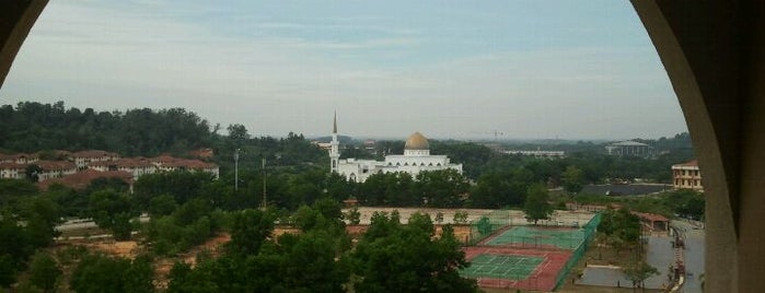
<svg viewBox="0 0 765 293">
<path fill-rule="evenodd" d="M 543 260 L 543 257 L 534 256 L 478 255 L 460 274 L 466 278 L 524 280 Z"/>
</svg>

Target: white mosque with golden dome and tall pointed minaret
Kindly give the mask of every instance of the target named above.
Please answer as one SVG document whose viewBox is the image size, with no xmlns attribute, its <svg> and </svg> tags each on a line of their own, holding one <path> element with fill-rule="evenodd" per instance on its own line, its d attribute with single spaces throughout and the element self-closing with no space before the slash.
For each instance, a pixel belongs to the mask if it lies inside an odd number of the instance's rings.
<svg viewBox="0 0 765 293">
<path fill-rule="evenodd" d="M 386 155 L 385 161 L 374 160 L 340 160 L 339 141 L 337 140 L 337 115 L 335 115 L 332 142 L 329 143 L 329 161 L 332 172 L 340 174 L 350 181 L 363 183 L 378 173 L 405 172 L 416 177 L 422 171 L 455 169 L 462 174 L 462 164 L 452 164 L 449 156 L 431 155 L 428 139 L 415 132 L 406 140 L 404 154 Z"/>
</svg>

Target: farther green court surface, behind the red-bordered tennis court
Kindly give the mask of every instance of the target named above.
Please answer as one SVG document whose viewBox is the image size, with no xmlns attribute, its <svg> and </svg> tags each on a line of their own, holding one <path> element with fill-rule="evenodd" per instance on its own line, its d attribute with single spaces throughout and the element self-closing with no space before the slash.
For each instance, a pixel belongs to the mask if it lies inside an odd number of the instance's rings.
<svg viewBox="0 0 765 293">
<path fill-rule="evenodd" d="M 515 226 L 486 242 L 487 245 L 513 245 L 523 247 L 554 246 L 560 249 L 575 249 L 583 241 L 581 230 L 550 230 Z"/>
</svg>

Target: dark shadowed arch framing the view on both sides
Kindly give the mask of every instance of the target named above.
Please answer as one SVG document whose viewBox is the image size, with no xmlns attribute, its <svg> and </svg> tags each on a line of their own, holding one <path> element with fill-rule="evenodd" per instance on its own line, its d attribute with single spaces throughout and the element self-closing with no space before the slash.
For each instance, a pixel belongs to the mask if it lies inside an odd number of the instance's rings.
<svg viewBox="0 0 765 293">
<path fill-rule="evenodd" d="M 48 0 L 0 1 L 0 86 Z M 765 288 L 765 4 L 631 0 L 704 169 L 707 292 Z M 351 176 L 355 177 L 353 174 Z M 714 265 L 712 265 L 714 263 Z"/>
</svg>

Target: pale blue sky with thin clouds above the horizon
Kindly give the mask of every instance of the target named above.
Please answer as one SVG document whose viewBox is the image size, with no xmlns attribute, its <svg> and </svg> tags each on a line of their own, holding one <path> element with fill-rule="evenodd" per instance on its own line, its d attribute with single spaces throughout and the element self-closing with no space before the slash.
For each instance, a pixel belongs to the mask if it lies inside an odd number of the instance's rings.
<svg viewBox="0 0 765 293">
<path fill-rule="evenodd" d="M 628 1 L 53 0 L 0 89 L 183 107 L 253 136 L 630 139 L 686 131 Z"/>
</svg>

